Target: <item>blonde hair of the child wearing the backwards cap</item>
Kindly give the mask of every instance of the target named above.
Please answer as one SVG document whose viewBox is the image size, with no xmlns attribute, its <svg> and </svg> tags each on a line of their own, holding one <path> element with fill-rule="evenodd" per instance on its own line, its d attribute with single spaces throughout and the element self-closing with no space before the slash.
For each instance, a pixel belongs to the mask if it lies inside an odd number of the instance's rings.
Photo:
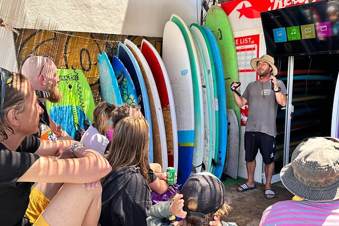
<svg viewBox="0 0 339 226">
<path fill-rule="evenodd" d="M 187 208 L 191 211 L 196 211 L 198 208 L 198 202 L 196 200 L 189 200 L 187 202 Z M 227 218 L 229 212 L 231 211 L 231 207 L 224 202 L 223 205 L 214 212 L 205 214 L 205 218 L 199 217 L 199 216 L 186 216 L 182 220 L 182 226 L 194 226 L 194 225 L 202 225 L 202 226 L 208 226 L 209 222 L 213 220 L 214 216 L 218 216 L 220 220 Z"/>
</svg>

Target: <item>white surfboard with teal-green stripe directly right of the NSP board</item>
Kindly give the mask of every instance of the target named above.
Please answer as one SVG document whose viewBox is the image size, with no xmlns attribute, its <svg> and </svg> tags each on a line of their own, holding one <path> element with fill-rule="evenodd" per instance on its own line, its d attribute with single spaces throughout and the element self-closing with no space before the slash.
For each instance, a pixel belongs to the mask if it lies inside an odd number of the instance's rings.
<svg viewBox="0 0 339 226">
<path fill-rule="evenodd" d="M 203 92 L 201 85 L 201 75 L 197 49 L 194 44 L 192 34 L 185 22 L 177 15 L 172 14 L 170 21 L 174 22 L 180 29 L 190 57 L 190 65 L 192 72 L 193 97 L 194 97 L 194 162 L 198 165 L 192 165 L 196 168 L 202 164 L 202 156 L 204 152 L 204 108 L 203 108 Z M 180 158 L 179 158 L 180 161 Z"/>
</svg>

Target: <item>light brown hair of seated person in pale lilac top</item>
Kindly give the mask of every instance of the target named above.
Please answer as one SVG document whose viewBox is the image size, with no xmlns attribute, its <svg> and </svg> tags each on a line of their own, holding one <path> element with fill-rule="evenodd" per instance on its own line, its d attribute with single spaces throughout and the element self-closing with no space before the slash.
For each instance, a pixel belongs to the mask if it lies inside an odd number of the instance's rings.
<svg viewBox="0 0 339 226">
<path fill-rule="evenodd" d="M 107 102 L 101 102 L 95 106 L 93 111 L 93 127 L 98 130 L 101 135 L 106 135 L 106 125 L 112 118 L 112 111 L 115 105 Z"/>
</svg>

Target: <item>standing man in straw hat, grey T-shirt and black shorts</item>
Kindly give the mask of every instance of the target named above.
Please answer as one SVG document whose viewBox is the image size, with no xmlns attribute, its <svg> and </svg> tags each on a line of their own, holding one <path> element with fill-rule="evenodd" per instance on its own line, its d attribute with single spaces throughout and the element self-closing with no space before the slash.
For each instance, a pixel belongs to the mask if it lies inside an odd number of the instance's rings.
<svg viewBox="0 0 339 226">
<path fill-rule="evenodd" d="M 256 189 L 254 184 L 255 157 L 260 150 L 265 163 L 265 198 L 274 199 L 275 193 L 271 190 L 271 179 L 274 172 L 274 154 L 276 150 L 276 117 L 278 104 L 285 106 L 287 91 L 282 81 L 275 77 L 278 70 L 274 59 L 270 55 L 251 60 L 252 68 L 258 73 L 259 80 L 251 82 L 243 95 L 234 98 L 239 107 L 248 103 L 248 118 L 245 130 L 245 161 L 248 179 L 241 184 L 237 191 L 245 192 Z M 235 82 L 231 88 L 237 86 Z M 239 87 L 237 88 L 239 91 Z M 239 92 L 238 92 L 239 93 Z"/>
</svg>

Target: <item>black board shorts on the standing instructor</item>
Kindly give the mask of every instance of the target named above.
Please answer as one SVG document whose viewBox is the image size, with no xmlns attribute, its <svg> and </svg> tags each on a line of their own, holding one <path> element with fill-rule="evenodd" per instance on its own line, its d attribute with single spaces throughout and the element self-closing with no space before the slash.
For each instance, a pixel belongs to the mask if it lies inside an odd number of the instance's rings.
<svg viewBox="0 0 339 226">
<path fill-rule="evenodd" d="M 253 162 L 258 149 L 263 159 L 263 163 L 271 164 L 274 162 L 276 153 L 276 137 L 261 132 L 245 132 L 245 161 Z"/>
</svg>

